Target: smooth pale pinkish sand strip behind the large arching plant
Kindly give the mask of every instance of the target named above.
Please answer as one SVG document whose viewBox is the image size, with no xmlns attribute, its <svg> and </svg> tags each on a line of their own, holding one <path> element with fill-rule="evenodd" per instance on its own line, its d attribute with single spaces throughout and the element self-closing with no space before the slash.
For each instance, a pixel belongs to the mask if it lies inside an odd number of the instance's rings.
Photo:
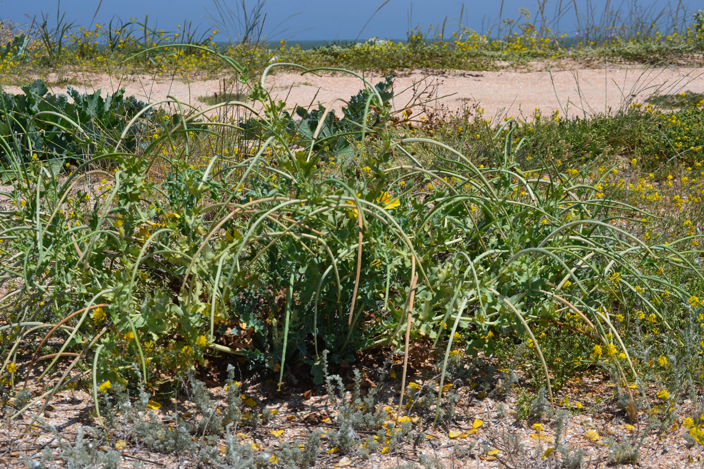
<svg viewBox="0 0 704 469">
<path fill-rule="evenodd" d="M 422 99 L 439 98 L 450 110 L 478 103 L 485 115 L 531 115 L 539 108 L 543 115 L 554 110 L 570 117 L 615 111 L 631 100 L 642 101 L 652 94 L 678 93 L 689 90 L 704 93 L 704 70 L 692 67 L 653 68 L 644 66 L 605 65 L 604 68 L 586 68 L 571 64 L 554 67 L 532 67 L 533 71 L 500 70 L 485 72 L 442 72 L 437 70 L 404 73 L 394 79 L 396 109 L 405 108 L 413 101 L 414 93 Z M 536 71 L 539 70 L 539 71 Z M 49 77 L 51 78 L 51 77 Z M 375 84 L 380 75 L 367 75 Z M 213 96 L 223 88 L 222 79 L 191 80 L 168 77 L 109 75 L 75 75 L 74 87 L 84 92 L 101 89 L 116 91 L 125 87 L 127 95 L 146 101 L 158 101 L 173 96 L 196 108 L 207 105 L 198 101 L 201 96 Z M 225 79 L 225 89 L 232 89 L 232 79 Z M 298 72 L 277 72 L 266 79 L 266 85 L 278 99 L 287 105 L 333 103 L 339 110 L 343 101 L 363 86 L 357 77 L 301 75 Z M 17 86 L 6 86 L 5 91 L 20 93 Z M 65 85 L 52 91 L 65 92 Z M 220 91 L 220 93 L 222 93 Z"/>
</svg>

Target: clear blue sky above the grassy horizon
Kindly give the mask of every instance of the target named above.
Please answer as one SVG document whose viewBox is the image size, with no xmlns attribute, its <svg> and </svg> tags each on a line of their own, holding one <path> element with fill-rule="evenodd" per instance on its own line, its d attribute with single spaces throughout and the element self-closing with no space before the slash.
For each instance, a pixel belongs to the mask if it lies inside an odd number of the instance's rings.
<svg viewBox="0 0 704 469">
<path fill-rule="evenodd" d="M 220 0 L 230 8 L 236 8 L 240 0 Z M 582 15 L 593 8 L 601 15 L 607 0 L 577 0 L 577 8 Z M 61 11 L 66 11 L 66 18 L 77 20 L 81 25 L 88 25 L 98 8 L 99 0 L 64 0 Z M 246 1 L 248 6 L 256 3 Z M 267 18 L 264 33 L 268 39 L 367 39 L 368 37 L 386 37 L 400 39 L 406 37 L 409 16 L 411 25 L 422 25 L 424 30 L 431 24 L 437 25 L 448 18 L 448 28 L 454 30 L 458 23 L 460 8 L 465 4 L 465 15 L 462 20 L 465 25 L 474 30 L 486 30 L 496 24 L 500 0 L 489 1 L 459 1 L 459 0 L 390 0 L 379 11 L 370 23 L 363 29 L 372 13 L 384 3 L 384 0 L 268 0 L 265 4 Z M 548 1 L 546 17 L 552 20 L 558 4 L 570 5 L 560 19 L 559 27 L 564 32 L 574 32 L 574 10 L 572 1 Z M 631 0 L 611 1 L 612 6 L 629 6 Z M 535 13 L 537 0 L 505 0 L 503 2 L 503 18 L 518 18 L 517 10 L 527 8 Z M 661 11 L 668 5 L 673 8 L 675 0 L 642 1 L 640 3 L 650 12 Z M 688 11 L 700 5 L 700 1 L 684 1 Z M 56 19 L 56 0 L 0 0 L 0 19 L 11 19 L 17 23 L 31 23 L 32 18 L 41 18 L 42 11 L 50 14 L 49 25 Z M 172 30 L 175 25 L 182 24 L 184 18 L 192 23 L 209 28 L 213 21 L 208 19 L 208 12 L 215 13 L 213 0 L 103 0 L 96 22 L 106 23 L 113 15 L 124 20 L 130 16 L 144 19 L 149 15 L 150 23 L 156 21 L 160 28 Z M 627 7 L 624 7 L 627 8 Z M 215 13 L 216 14 L 216 13 Z M 691 14 L 691 13 L 690 13 Z M 598 16 L 597 16 L 598 17 Z M 287 19 L 288 18 L 288 19 Z M 275 26 L 280 25 L 277 29 Z M 232 31 L 232 35 L 236 32 Z M 225 34 L 220 34 L 220 40 L 225 40 Z"/>
</svg>

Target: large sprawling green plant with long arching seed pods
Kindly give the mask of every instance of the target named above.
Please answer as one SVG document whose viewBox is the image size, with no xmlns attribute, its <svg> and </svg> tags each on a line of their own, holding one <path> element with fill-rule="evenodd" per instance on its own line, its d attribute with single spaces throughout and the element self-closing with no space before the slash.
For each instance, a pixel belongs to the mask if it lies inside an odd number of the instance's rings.
<svg viewBox="0 0 704 469">
<path fill-rule="evenodd" d="M 125 151 L 135 115 L 113 148 L 67 178 L 23 158 L 25 135 L 3 137 L 8 383 L 52 336 L 60 346 L 41 357 L 51 360 L 42 375 L 71 364 L 40 397 L 83 360 L 95 395 L 126 384 L 135 361 L 153 388 L 217 353 L 279 371 L 279 382 L 303 361 L 322 380 L 324 349 L 349 361 L 410 334 L 444 355 L 442 387 L 454 342 L 490 354 L 500 336 L 528 341 L 552 398 L 536 327 L 589 338 L 579 347 L 591 348 L 591 363 L 607 361 L 627 385 L 637 373 L 624 316 L 628 325 L 642 313 L 665 332 L 671 317 L 700 311 L 672 276 L 701 278 L 698 235 L 636 236 L 654 215 L 615 196 L 612 170 L 570 172 L 546 155 L 524 169 L 529 140 L 515 141 L 513 120 L 485 127 L 479 165 L 396 119 L 388 82 L 363 82 L 339 122 L 332 110 L 292 119 L 264 77 L 241 79 L 250 103 L 222 106 L 250 119 L 162 120 L 145 148 Z"/>
</svg>

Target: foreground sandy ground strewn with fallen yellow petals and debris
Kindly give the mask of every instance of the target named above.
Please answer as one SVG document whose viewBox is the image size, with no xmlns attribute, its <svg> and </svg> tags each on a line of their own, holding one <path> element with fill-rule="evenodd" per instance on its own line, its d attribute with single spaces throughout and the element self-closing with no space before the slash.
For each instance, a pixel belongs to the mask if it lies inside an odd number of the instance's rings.
<svg viewBox="0 0 704 469">
<path fill-rule="evenodd" d="M 249 386 L 248 396 L 252 387 L 260 387 L 260 383 Z M 261 387 L 259 390 L 262 390 Z M 580 467 L 585 469 L 701 467 L 699 461 L 702 461 L 702 446 L 691 447 L 686 444 L 683 438 L 686 428 L 678 422 L 667 432 L 648 430 L 645 411 L 641 413 L 639 422 L 635 422 L 635 425 L 632 426 L 628 425 L 624 412 L 615 404 L 613 390 L 613 386 L 610 383 L 605 383 L 601 378 L 587 377 L 574 380 L 574 384 L 568 385 L 564 390 L 558 392 L 558 409 L 567 409 L 562 405 L 562 402 L 572 402 L 570 418 L 562 432 L 562 444 L 570 448 L 570 451 L 581 449 L 584 452 Z M 322 392 L 320 389 L 318 391 Z M 215 401 L 225 398 L 222 387 L 210 388 L 208 392 Z M 388 404 L 391 406 L 392 412 L 393 409 L 396 409 L 397 392 L 394 385 L 382 392 L 382 395 L 388 395 Z M 408 411 L 408 415 L 420 415 L 422 418 L 413 425 L 412 436 L 404 440 L 397 449 L 386 454 L 376 451 L 370 455 L 370 458 L 365 459 L 360 458 L 356 451 L 348 455 L 336 453 L 329 451 L 327 436 L 323 436 L 318 464 L 315 467 L 325 469 L 345 467 L 398 469 L 404 467 L 403 464 L 410 463 L 410 466 L 406 467 L 428 468 L 429 466 L 420 464 L 421 455 L 436 458 L 441 465 L 434 467 L 447 469 L 553 469 L 565 467 L 556 461 L 556 455 L 549 458 L 543 456 L 545 451 L 555 446 L 554 420 L 551 418 L 541 420 L 543 430 L 541 430 L 539 437 L 536 435 L 536 429 L 532 422 L 515 420 L 517 397 L 513 392 L 499 399 L 489 396 L 479 397 L 481 393 L 477 394 L 476 390 L 468 390 L 468 386 L 464 386 L 458 392 L 460 392 L 461 399 L 458 402 L 455 418 L 436 428 L 432 428 L 432 411 Z M 241 444 L 255 445 L 253 448 L 256 449 L 257 454 L 273 454 L 274 451 L 282 448 L 283 442 L 294 442 L 295 446 L 298 442 L 306 441 L 311 432 L 315 430 L 334 432 L 337 428 L 334 420 L 338 410 L 336 406 L 331 406 L 327 398 L 321 396 L 320 393 L 310 398 L 301 397 L 301 393 L 294 393 L 284 397 L 283 400 L 280 397 L 278 399 L 267 398 L 266 394 L 266 392 L 255 392 L 251 395 L 258 403 L 256 408 L 258 411 L 262 411 L 264 408 L 275 409 L 278 412 L 275 418 L 270 423 L 265 423 L 257 428 L 244 425 L 234 430 L 237 432 Z M 348 398 L 346 397 L 346 399 Z M 164 404 L 163 408 L 156 412 L 156 418 L 163 421 L 164 425 L 172 423 L 171 419 L 175 411 L 172 405 L 176 404 L 176 401 L 163 399 L 163 397 L 154 397 L 154 399 L 163 401 Z M 501 415 L 498 412 L 500 402 L 508 409 L 508 413 Z M 584 404 L 584 408 L 577 410 L 574 407 L 576 402 Z M 180 413 L 184 411 L 195 412 L 192 404 L 179 402 L 179 405 L 182 406 Z M 678 406 L 677 411 L 684 415 L 693 415 L 695 405 L 691 401 L 685 400 L 681 402 L 681 406 Z M 32 410 L 36 412 L 39 407 L 40 404 L 37 404 Z M 73 442 L 80 426 L 87 425 L 91 428 L 99 428 L 94 415 L 92 415 L 92 409 L 92 397 L 87 392 L 63 390 L 56 394 L 56 397 L 51 401 L 51 406 L 40 414 L 43 422 L 54 425 L 58 433 L 52 434 L 46 429 L 42 430 L 42 425 L 37 425 L 32 428 L 32 432 L 26 433 L 27 425 L 32 422 L 32 418 L 29 416 L 13 420 L 12 423 L 5 426 L 0 424 L 0 468 L 32 467 L 31 461 L 39 460 L 41 452 L 46 446 L 58 452 L 56 450 L 57 438 L 64 442 Z M 168 413 L 170 415 L 167 415 Z M 1 411 L 0 416 L 2 416 Z M 479 425 L 475 419 L 480 420 Z M 0 421 L 2 421 L 1 417 Z M 103 440 L 99 447 L 102 451 L 115 450 L 115 444 L 122 440 L 124 447 L 120 450 L 120 465 L 118 466 L 120 469 L 134 468 L 134 463 L 141 463 L 144 469 L 211 467 L 199 464 L 196 455 L 163 454 L 151 451 L 131 434 L 130 428 L 122 427 L 119 424 L 115 426 L 116 428 L 110 431 L 111 441 L 106 443 Z M 467 434 L 450 437 L 450 432 L 453 430 L 460 433 L 472 428 L 476 428 L 476 431 L 468 431 Z M 272 433 L 272 430 L 283 430 L 283 432 L 278 435 Z M 418 436 L 420 432 L 425 432 L 430 435 L 430 438 Z M 367 437 L 371 433 L 373 432 L 360 432 L 358 437 Z M 513 444 L 508 435 L 515 437 Z M 631 444 L 637 444 L 641 438 L 643 440 L 638 463 L 614 465 L 609 462 L 608 440 L 625 440 Z M 522 447 L 517 446 L 519 443 Z M 220 444 L 223 444 L 222 440 L 215 446 Z M 494 449 L 496 454 L 493 456 L 484 454 L 482 450 L 484 446 Z M 472 447 L 474 449 L 470 449 Z M 65 462 L 59 461 L 56 463 L 58 463 L 56 467 L 62 467 L 65 464 Z"/>
</svg>

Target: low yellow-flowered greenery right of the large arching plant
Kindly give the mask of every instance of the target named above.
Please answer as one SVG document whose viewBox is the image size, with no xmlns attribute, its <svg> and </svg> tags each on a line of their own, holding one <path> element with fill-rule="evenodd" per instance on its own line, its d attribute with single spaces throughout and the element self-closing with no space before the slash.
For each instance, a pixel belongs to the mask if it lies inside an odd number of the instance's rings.
<svg viewBox="0 0 704 469">
<path fill-rule="evenodd" d="M 538 169 L 548 163 L 565 176 L 581 179 L 596 188 L 596 198 L 608 203 L 627 203 L 650 215 L 633 212 L 624 226 L 648 244 L 679 245 L 681 252 L 691 262 L 689 266 L 663 266 L 655 275 L 668 276 L 674 284 L 684 285 L 691 292 L 688 298 L 692 308 L 668 307 L 664 320 L 672 330 L 679 330 L 677 339 L 663 332 L 662 319 L 650 316 L 639 300 L 629 300 L 609 305 L 615 325 L 631 351 L 634 366 L 641 378 L 657 383 L 668 394 L 689 393 L 700 383 L 700 353 L 702 342 L 698 323 L 698 305 L 703 288 L 699 273 L 702 258 L 699 251 L 702 217 L 701 195 L 702 162 L 699 107 L 683 110 L 655 110 L 652 105 L 631 105 L 615 115 L 595 116 L 589 119 L 565 119 L 559 113 L 543 117 L 535 113 L 517 122 L 515 134 L 527 139 L 517 151 L 521 167 Z M 498 140 L 491 135 L 491 121 L 482 113 L 467 110 L 459 115 L 432 115 L 427 120 L 410 122 L 409 131 L 417 136 L 438 139 L 448 146 L 463 148 L 476 165 L 488 165 L 491 153 L 501 151 L 505 144 L 516 144 L 516 137 Z M 660 142 L 660 146 L 656 142 Z M 665 146 L 667 141 L 684 142 L 682 150 Z M 693 146 L 692 146 L 693 145 Z M 444 156 L 444 155 L 441 155 Z M 429 165 L 438 165 L 436 157 L 427 157 Z M 636 288 L 636 291 L 640 288 Z M 669 290 L 660 293 L 662 300 L 669 300 Z M 565 320 L 567 319 L 567 320 Z M 579 376 L 580 373 L 604 364 L 608 356 L 585 332 L 581 319 L 576 317 L 553 318 L 553 321 L 536 327 L 536 338 L 543 352 L 551 356 L 555 366 L 554 383 Z M 555 335 L 551 331 L 570 333 Z M 467 340 L 495 341 L 492 350 L 505 353 L 505 359 L 515 361 L 512 338 L 491 337 L 486 333 L 471 331 Z M 610 349 L 610 352 L 615 352 Z M 622 353 L 622 352 L 617 352 Z M 523 366 L 535 369 L 540 366 L 534 354 L 523 354 Z M 521 357 L 521 360 L 523 356 Z M 665 395 L 665 394 L 663 394 Z"/>
</svg>

